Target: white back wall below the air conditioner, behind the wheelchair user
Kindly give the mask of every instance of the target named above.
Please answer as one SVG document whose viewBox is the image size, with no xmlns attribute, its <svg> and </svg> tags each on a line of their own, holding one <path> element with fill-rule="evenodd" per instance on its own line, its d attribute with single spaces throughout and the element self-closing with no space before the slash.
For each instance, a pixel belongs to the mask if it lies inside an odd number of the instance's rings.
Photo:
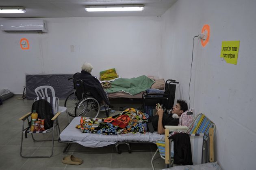
<svg viewBox="0 0 256 170">
<path fill-rule="evenodd" d="M 95 76 L 109 68 L 125 78 L 158 76 L 159 17 L 45 20 L 49 31 L 44 34 L 0 31 L 0 89 L 22 94 L 26 74 L 74 74 L 83 62 L 93 65 Z M 21 38 L 29 40 L 29 50 L 20 48 Z"/>
</svg>

